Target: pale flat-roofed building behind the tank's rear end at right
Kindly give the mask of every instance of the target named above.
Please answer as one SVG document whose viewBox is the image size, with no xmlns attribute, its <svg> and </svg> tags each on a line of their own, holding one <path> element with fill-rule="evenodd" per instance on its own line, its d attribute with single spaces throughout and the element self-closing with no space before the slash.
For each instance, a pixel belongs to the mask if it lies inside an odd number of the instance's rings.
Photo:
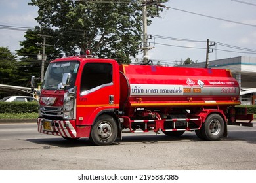
<svg viewBox="0 0 256 183">
<path fill-rule="evenodd" d="M 186 67 L 205 67 L 205 62 L 186 65 Z M 230 69 L 240 84 L 242 105 L 256 105 L 256 58 L 238 56 L 235 58 L 209 61 L 209 68 Z"/>
</svg>

